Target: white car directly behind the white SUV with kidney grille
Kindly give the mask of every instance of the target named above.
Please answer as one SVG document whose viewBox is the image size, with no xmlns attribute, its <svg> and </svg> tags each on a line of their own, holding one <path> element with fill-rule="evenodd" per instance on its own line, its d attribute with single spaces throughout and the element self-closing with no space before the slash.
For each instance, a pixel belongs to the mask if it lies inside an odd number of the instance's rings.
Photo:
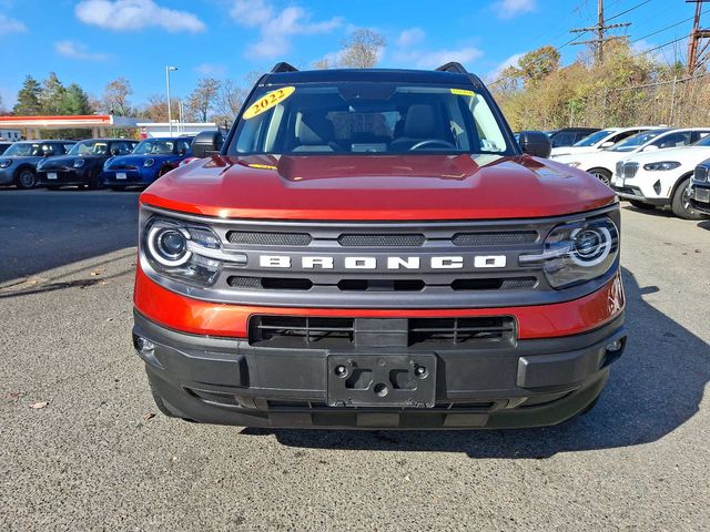
<svg viewBox="0 0 710 532">
<path fill-rule="evenodd" d="M 687 146 L 708 134 L 710 127 L 657 127 L 629 136 L 607 150 L 565 155 L 555 161 L 589 172 L 609 185 L 619 160 L 627 158 L 632 153 Z"/>
</svg>

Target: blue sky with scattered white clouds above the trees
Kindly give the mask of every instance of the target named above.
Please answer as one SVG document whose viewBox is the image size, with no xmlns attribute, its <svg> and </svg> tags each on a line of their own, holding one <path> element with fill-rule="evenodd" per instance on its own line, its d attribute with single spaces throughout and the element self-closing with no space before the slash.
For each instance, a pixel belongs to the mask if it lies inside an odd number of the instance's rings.
<svg viewBox="0 0 710 532">
<path fill-rule="evenodd" d="M 683 0 L 605 6 L 607 18 L 629 10 L 611 22 L 631 22 L 616 34 L 628 34 L 639 51 L 686 37 L 694 9 Z M 569 29 L 596 23 L 596 0 L 0 0 L 0 98 L 11 108 L 26 75 L 42 80 L 53 71 L 97 98 L 124 76 L 140 104 L 164 94 L 169 64 L 178 68 L 178 98 L 204 76 L 246 85 L 250 72 L 278 61 L 311 68 L 357 28 L 385 37 L 378 66 L 459 61 L 490 79 L 545 44 L 559 48 L 564 63 L 574 61 L 585 47 L 568 43 L 577 37 Z M 683 60 L 686 48 L 683 40 L 652 53 Z"/>
</svg>

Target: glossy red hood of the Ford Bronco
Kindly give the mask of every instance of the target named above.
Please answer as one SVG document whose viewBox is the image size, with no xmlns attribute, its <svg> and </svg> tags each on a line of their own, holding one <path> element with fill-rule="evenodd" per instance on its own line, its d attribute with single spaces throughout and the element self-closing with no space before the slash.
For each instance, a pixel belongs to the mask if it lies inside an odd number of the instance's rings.
<svg viewBox="0 0 710 532">
<path fill-rule="evenodd" d="M 271 219 L 486 219 L 602 207 L 589 174 L 527 155 L 213 156 L 166 174 L 143 204 Z"/>
</svg>

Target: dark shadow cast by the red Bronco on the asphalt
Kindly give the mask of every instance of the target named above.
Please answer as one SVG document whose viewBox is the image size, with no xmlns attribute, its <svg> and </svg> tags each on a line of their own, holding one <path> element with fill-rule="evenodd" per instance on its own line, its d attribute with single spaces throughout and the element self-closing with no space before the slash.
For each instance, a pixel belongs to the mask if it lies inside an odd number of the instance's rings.
<svg viewBox="0 0 710 532">
<path fill-rule="evenodd" d="M 558 452 L 636 446 L 672 432 L 698 411 L 710 380 L 710 347 L 647 304 L 623 270 L 628 347 L 612 366 L 596 408 L 566 423 L 510 431 L 276 430 L 291 447 L 386 451 L 465 452 L 471 458 L 547 458 Z M 244 433 L 258 433 L 245 430 Z M 264 433 L 264 432 L 261 432 Z"/>
</svg>

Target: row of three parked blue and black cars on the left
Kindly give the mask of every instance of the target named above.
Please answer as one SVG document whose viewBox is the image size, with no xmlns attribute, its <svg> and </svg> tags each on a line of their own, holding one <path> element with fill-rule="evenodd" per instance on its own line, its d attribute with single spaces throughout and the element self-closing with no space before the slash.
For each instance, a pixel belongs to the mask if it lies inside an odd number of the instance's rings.
<svg viewBox="0 0 710 532">
<path fill-rule="evenodd" d="M 20 141 L 0 155 L 0 184 L 49 190 L 146 186 L 192 156 L 192 140 Z"/>
</svg>

